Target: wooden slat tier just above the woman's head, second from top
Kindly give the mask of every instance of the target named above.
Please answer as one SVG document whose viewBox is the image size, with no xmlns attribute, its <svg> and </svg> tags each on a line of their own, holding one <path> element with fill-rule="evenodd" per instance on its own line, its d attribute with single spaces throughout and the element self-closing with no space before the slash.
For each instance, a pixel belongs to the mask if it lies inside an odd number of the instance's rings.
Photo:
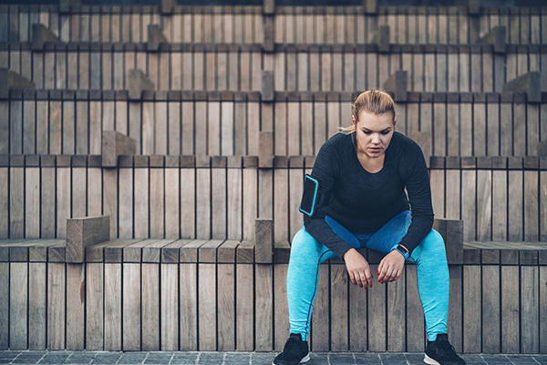
<svg viewBox="0 0 547 365">
<path fill-rule="evenodd" d="M 31 79 L 37 89 L 129 89 L 129 69 L 140 68 L 157 90 L 218 91 L 259 91 L 256 80 L 267 69 L 268 56 L 257 44 L 170 44 L 148 52 L 144 43 L 80 43 L 43 51 L 31 51 L 29 44 L 0 43 L 1 55 L 5 62 L 0 65 Z M 353 92 L 382 87 L 389 75 L 403 69 L 408 71 L 409 91 L 501 92 L 513 78 L 545 73 L 546 55 L 539 45 L 509 46 L 501 55 L 490 45 L 397 45 L 391 47 L 388 61 L 375 45 L 278 45 L 275 90 Z M 30 57 L 33 62 L 25 62 Z M 50 59 L 56 72 L 46 64 Z M 497 68 L 497 63 L 506 69 Z"/>
</svg>

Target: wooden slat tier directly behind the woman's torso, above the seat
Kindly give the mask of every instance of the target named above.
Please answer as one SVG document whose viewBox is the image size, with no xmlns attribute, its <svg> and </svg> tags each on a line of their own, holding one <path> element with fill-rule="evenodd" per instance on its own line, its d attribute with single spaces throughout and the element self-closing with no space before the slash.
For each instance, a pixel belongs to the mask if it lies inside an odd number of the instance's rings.
<svg viewBox="0 0 547 365">
<path fill-rule="evenodd" d="M 2 161 L 0 172 L 11 182 L 0 195 L 8 213 L 0 215 L 6 238 L 62 238 L 67 218 L 102 209 L 111 215 L 113 237 L 253 240 L 254 219 L 271 216 L 274 239 L 288 242 L 302 225 L 297 206 L 315 158 L 275 156 L 274 168 L 263 169 L 253 156 L 123 156 L 116 171 L 99 169 L 95 155 L 12 155 Z M 544 241 L 546 169 L 546 160 L 533 156 L 434 156 L 435 212 L 464 220 L 466 240 Z M 50 216 L 36 214 L 47 202 L 51 182 L 44 177 L 50 172 L 57 172 L 57 205 L 46 206 Z M 113 172 L 118 179 L 110 177 Z M 86 184 L 86 176 L 93 183 Z M 108 202 L 113 191 L 119 192 L 117 203 Z M 25 194 L 26 205 L 10 203 Z M 41 230 L 31 229 L 35 225 Z"/>
</svg>

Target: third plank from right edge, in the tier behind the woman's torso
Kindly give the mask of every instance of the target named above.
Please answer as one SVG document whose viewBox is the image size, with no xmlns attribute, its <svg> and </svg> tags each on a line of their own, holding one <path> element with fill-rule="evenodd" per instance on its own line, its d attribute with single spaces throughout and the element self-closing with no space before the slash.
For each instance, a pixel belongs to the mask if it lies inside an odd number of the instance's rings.
<svg viewBox="0 0 547 365">
<path fill-rule="evenodd" d="M 508 239 L 509 241 L 522 241 L 523 232 L 523 196 L 522 183 L 523 172 L 509 171 L 509 214 L 508 219 Z"/>
</svg>

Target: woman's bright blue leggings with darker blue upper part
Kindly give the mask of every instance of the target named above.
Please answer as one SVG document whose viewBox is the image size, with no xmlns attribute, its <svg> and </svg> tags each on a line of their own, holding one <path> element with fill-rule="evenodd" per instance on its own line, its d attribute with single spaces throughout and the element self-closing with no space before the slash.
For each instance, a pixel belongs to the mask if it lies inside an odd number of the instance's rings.
<svg viewBox="0 0 547 365">
<path fill-rule="evenodd" d="M 352 234 L 329 216 L 325 217 L 325 221 L 349 245 L 387 254 L 407 234 L 411 216 L 410 211 L 397 214 L 372 234 Z M 300 333 L 303 340 L 307 340 L 310 330 L 319 264 L 334 257 L 335 254 L 315 240 L 304 227 L 294 235 L 287 271 L 289 324 L 291 333 Z M 431 230 L 408 260 L 416 264 L 418 293 L 424 308 L 426 331 L 428 340 L 433 341 L 439 333 L 447 332 L 449 312 L 449 266 L 441 235 Z"/>
</svg>

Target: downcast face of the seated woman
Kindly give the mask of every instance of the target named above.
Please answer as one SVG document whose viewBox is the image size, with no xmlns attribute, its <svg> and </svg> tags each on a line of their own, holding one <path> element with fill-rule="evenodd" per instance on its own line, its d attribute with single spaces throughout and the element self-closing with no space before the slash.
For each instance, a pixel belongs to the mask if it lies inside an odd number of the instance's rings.
<svg viewBox="0 0 547 365">
<path fill-rule="evenodd" d="M 373 159 L 383 156 L 397 123 L 393 113 L 374 114 L 361 111 L 359 120 L 352 116 L 351 121 L 356 128 L 357 151 Z"/>
</svg>

